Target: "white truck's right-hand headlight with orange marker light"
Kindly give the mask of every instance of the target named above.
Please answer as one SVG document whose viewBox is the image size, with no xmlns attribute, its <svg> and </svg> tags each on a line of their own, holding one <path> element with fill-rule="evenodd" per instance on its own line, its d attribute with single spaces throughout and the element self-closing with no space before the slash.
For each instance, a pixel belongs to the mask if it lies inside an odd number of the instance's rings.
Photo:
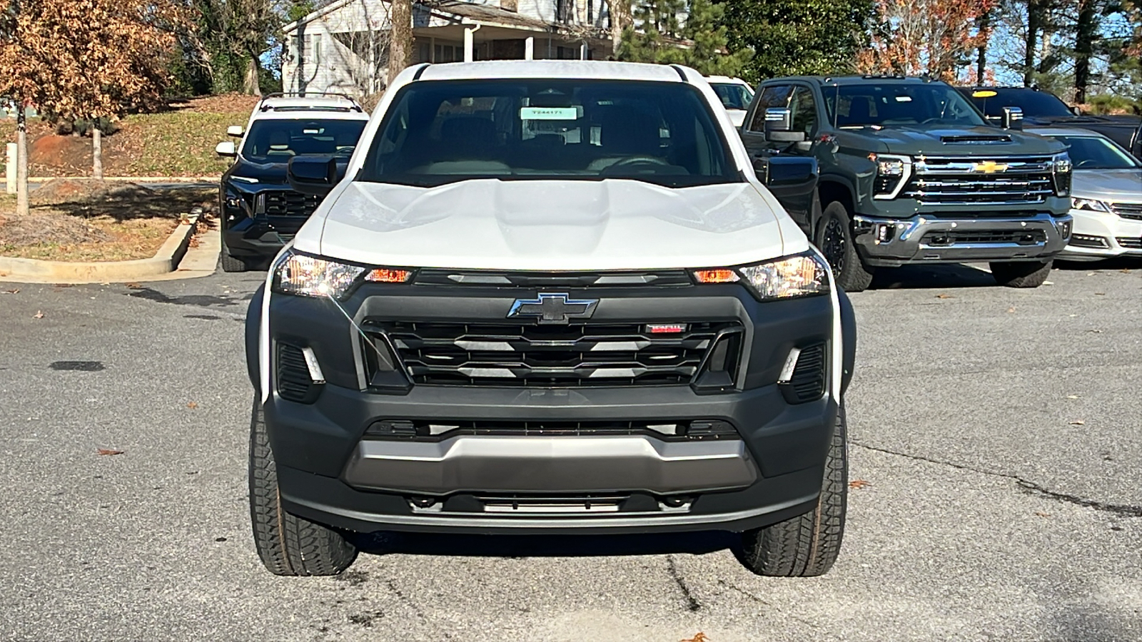
<svg viewBox="0 0 1142 642">
<path fill-rule="evenodd" d="M 695 270 L 699 283 L 729 283 L 743 280 L 761 300 L 827 294 L 828 267 L 813 252 L 787 256 L 737 270 Z"/>
</svg>

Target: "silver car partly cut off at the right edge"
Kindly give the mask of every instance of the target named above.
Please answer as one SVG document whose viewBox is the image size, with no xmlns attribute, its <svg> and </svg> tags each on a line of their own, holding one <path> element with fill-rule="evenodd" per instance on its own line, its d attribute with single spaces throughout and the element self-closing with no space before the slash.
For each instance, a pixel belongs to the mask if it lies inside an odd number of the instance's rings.
<svg viewBox="0 0 1142 642">
<path fill-rule="evenodd" d="M 1075 163 L 1075 230 L 1059 258 L 1099 260 L 1142 257 L 1142 162 L 1101 134 L 1086 129 L 1028 129 L 1070 145 Z"/>
</svg>

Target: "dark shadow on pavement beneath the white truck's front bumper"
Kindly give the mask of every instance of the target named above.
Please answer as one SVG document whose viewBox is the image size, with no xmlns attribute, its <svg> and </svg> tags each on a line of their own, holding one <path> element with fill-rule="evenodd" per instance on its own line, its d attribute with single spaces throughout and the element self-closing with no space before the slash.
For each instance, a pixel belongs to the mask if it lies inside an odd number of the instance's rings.
<svg viewBox="0 0 1142 642">
<path fill-rule="evenodd" d="M 738 536 L 723 531 L 658 535 L 444 535 L 377 532 L 356 545 L 369 554 L 466 557 L 600 557 L 616 555 L 701 555 L 734 547 Z"/>
</svg>

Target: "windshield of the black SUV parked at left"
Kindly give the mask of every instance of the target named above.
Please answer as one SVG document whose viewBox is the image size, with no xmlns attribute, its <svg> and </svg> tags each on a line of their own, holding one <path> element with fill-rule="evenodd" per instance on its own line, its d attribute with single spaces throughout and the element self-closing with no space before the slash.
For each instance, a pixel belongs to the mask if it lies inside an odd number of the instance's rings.
<svg viewBox="0 0 1142 642">
<path fill-rule="evenodd" d="M 364 120 L 256 120 L 246 135 L 242 157 L 254 162 L 289 162 L 301 154 L 352 155 Z"/>
</svg>

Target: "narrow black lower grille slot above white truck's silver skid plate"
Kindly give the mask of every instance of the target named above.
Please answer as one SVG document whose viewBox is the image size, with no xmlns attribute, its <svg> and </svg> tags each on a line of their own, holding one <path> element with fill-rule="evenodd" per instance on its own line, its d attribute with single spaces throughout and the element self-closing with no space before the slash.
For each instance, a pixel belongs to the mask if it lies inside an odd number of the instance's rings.
<svg viewBox="0 0 1142 642">
<path fill-rule="evenodd" d="M 741 439 L 733 424 L 722 419 L 648 419 L 638 422 L 381 419 L 373 422 L 364 433 L 365 439 L 412 441 L 441 441 L 463 435 L 650 435 L 664 441 Z"/>
</svg>

